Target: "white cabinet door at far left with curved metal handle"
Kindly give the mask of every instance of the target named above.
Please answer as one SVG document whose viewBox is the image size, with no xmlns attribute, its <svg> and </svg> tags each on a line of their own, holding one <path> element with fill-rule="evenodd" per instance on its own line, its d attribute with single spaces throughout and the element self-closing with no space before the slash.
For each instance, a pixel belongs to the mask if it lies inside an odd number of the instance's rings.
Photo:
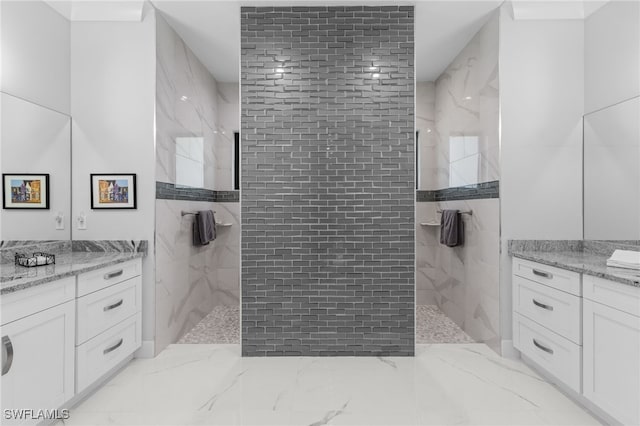
<svg viewBox="0 0 640 426">
<path fill-rule="evenodd" d="M 3 416 L 6 409 L 55 410 L 71 399 L 74 348 L 75 300 L 3 325 Z"/>
</svg>

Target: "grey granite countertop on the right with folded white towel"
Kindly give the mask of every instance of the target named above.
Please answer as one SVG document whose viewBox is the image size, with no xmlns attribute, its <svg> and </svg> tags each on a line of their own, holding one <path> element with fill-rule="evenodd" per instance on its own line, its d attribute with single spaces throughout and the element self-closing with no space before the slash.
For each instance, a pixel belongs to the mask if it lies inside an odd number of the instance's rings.
<svg viewBox="0 0 640 426">
<path fill-rule="evenodd" d="M 561 247 L 557 251 L 547 251 L 510 246 L 509 254 L 520 259 L 640 287 L 640 270 L 607 266 L 606 262 L 610 253 L 604 254 L 589 248 L 579 247 Z"/>
</svg>

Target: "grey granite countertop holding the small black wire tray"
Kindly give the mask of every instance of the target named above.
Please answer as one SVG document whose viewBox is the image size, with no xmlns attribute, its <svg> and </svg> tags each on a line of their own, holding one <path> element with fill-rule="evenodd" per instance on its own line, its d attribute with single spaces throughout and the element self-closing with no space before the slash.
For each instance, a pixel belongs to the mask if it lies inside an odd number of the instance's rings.
<svg viewBox="0 0 640 426">
<path fill-rule="evenodd" d="M 54 265 L 25 268 L 0 264 L 0 295 L 146 256 L 146 251 L 74 251 L 56 254 Z"/>
</svg>

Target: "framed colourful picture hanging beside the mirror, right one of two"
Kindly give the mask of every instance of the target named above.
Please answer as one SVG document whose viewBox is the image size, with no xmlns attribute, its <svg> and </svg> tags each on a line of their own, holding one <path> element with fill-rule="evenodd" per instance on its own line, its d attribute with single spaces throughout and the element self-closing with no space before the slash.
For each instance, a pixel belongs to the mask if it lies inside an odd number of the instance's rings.
<svg viewBox="0 0 640 426">
<path fill-rule="evenodd" d="M 135 209 L 135 174 L 91 174 L 92 209 Z"/>
</svg>

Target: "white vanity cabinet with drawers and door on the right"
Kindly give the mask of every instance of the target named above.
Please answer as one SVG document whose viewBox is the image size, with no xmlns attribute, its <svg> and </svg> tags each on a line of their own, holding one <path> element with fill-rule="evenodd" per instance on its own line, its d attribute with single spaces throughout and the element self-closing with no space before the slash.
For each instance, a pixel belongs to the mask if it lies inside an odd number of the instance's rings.
<svg viewBox="0 0 640 426">
<path fill-rule="evenodd" d="M 640 287 L 512 265 L 516 349 L 607 416 L 640 424 Z"/>
</svg>

